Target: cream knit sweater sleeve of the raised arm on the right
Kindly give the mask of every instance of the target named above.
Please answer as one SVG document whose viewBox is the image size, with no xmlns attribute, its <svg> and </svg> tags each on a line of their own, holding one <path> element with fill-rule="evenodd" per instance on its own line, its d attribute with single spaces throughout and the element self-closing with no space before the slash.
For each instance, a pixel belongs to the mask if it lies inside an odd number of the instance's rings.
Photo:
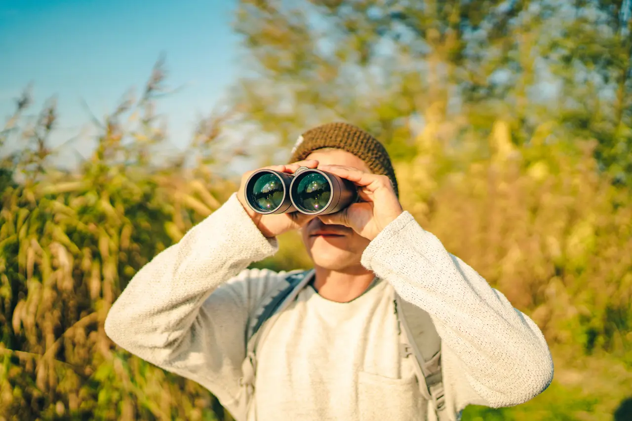
<svg viewBox="0 0 632 421">
<path fill-rule="evenodd" d="M 553 362 L 538 326 L 410 213 L 380 232 L 362 264 L 432 317 L 456 409 L 518 405 L 549 386 Z"/>
</svg>

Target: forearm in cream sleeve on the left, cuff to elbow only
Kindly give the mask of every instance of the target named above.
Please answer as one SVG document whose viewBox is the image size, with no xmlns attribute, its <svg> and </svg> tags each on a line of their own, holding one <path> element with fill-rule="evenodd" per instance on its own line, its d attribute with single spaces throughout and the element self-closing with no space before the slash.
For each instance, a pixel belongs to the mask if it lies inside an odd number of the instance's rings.
<svg viewBox="0 0 632 421">
<path fill-rule="evenodd" d="M 200 306 L 216 288 L 276 249 L 276 239 L 265 239 L 231 196 L 138 271 L 112 305 L 107 335 L 160 364 L 188 334 Z"/>
</svg>

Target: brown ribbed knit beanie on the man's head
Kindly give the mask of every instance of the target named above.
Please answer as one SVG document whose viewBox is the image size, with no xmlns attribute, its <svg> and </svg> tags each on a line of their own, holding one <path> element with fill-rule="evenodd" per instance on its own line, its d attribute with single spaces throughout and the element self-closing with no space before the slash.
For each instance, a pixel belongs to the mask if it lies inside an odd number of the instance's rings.
<svg viewBox="0 0 632 421">
<path fill-rule="evenodd" d="M 322 148 L 337 148 L 353 153 L 367 164 L 371 172 L 389 177 L 399 197 L 391 158 L 384 145 L 366 131 L 343 122 L 314 127 L 298 138 L 289 162 L 304 160 L 310 153 Z"/>
</svg>

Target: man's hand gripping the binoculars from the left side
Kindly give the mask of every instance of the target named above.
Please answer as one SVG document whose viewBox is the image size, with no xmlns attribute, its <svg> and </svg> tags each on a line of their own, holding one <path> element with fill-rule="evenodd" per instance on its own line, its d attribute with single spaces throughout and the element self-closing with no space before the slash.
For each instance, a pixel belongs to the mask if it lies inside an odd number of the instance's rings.
<svg viewBox="0 0 632 421">
<path fill-rule="evenodd" d="M 308 167 L 310 169 L 314 169 L 318 167 L 317 160 L 307 160 L 307 161 L 299 161 L 295 163 L 290 163 L 288 165 L 272 165 L 271 167 L 264 167 L 266 170 L 274 170 L 278 172 L 287 172 L 288 174 L 294 174 L 296 170 L 300 167 Z M 258 170 L 255 170 L 258 171 Z M 241 206 L 246 210 L 246 213 L 252 218 L 257 228 L 261 231 L 261 234 L 266 238 L 276 237 L 277 235 L 281 235 L 284 232 L 288 232 L 291 230 L 296 230 L 298 228 L 303 227 L 303 225 L 307 224 L 315 218 L 312 215 L 305 215 L 304 213 L 300 213 L 298 211 L 291 213 L 277 213 L 262 215 L 253 211 L 248 203 L 246 203 L 246 198 L 243 194 L 243 191 L 246 187 L 246 181 L 248 181 L 248 177 L 252 175 L 255 171 L 248 171 L 241 177 L 241 186 L 239 187 L 239 191 L 237 192 L 237 198 L 239 199 Z"/>
</svg>

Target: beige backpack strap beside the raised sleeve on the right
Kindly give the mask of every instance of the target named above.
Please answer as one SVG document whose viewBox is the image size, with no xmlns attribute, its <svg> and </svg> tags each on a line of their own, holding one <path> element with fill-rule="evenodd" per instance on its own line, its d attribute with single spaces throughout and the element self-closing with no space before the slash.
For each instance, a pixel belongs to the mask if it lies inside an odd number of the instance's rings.
<svg viewBox="0 0 632 421">
<path fill-rule="evenodd" d="M 441 337 L 428 312 L 395 294 L 395 313 L 405 333 L 402 356 L 414 355 L 420 390 L 432 405 L 438 421 L 449 420 L 441 372 Z"/>
</svg>

